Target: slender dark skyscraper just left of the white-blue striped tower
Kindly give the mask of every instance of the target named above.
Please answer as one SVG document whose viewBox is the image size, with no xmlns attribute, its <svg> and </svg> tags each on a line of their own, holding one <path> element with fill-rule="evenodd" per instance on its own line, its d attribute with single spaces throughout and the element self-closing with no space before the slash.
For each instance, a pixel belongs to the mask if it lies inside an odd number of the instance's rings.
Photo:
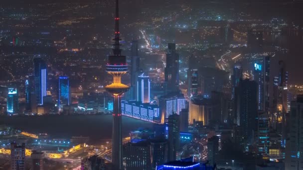
<svg viewBox="0 0 303 170">
<path fill-rule="evenodd" d="M 135 100 L 137 97 L 137 82 L 138 76 L 140 74 L 140 57 L 138 53 L 138 40 L 132 41 L 132 49 L 131 49 L 131 90 L 130 90 L 130 98 Z"/>
</svg>

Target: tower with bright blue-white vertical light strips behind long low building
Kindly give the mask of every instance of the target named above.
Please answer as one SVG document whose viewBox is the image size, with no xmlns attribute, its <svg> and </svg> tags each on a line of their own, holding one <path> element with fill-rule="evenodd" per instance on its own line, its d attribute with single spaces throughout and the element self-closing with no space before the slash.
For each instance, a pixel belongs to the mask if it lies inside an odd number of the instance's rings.
<svg viewBox="0 0 303 170">
<path fill-rule="evenodd" d="M 151 99 L 150 77 L 144 74 L 138 76 L 137 82 L 137 100 L 142 103 L 149 103 Z"/>
</svg>

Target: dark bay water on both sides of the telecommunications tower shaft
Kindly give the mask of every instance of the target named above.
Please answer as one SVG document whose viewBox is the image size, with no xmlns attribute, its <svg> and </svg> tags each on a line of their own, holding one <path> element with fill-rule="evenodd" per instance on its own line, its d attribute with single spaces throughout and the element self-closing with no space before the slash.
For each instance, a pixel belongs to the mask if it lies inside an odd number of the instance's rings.
<svg viewBox="0 0 303 170">
<path fill-rule="evenodd" d="M 112 115 L 2 116 L 0 124 L 31 133 L 47 133 L 52 138 L 89 136 L 91 142 L 95 142 L 112 136 Z M 152 123 L 123 116 L 124 137 L 138 128 L 152 128 Z"/>
</svg>

